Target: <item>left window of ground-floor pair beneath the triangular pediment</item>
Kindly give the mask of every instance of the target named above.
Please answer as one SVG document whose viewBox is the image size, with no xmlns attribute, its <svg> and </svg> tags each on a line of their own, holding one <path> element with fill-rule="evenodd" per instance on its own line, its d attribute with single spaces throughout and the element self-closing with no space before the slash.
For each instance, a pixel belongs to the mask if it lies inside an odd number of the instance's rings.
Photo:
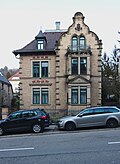
<svg viewBox="0 0 120 164">
<path fill-rule="evenodd" d="M 72 87 L 71 90 L 71 103 L 78 104 L 78 88 Z"/>
</svg>

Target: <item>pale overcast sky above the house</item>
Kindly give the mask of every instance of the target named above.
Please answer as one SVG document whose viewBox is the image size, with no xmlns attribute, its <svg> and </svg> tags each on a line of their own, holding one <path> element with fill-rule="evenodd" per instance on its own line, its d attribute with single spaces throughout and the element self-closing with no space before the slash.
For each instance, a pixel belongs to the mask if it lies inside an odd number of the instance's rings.
<svg viewBox="0 0 120 164">
<path fill-rule="evenodd" d="M 0 68 L 19 68 L 12 53 L 21 49 L 42 29 L 68 29 L 76 12 L 83 13 L 85 24 L 95 32 L 108 55 L 120 47 L 120 0 L 0 0 Z"/>
</svg>

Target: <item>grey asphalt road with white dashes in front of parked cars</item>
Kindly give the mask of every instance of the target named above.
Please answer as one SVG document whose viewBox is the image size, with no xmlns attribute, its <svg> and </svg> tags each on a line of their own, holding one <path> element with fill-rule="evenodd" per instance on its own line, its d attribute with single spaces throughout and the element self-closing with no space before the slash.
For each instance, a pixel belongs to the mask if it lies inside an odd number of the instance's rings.
<svg viewBox="0 0 120 164">
<path fill-rule="evenodd" d="M 68 163 L 120 164 L 120 128 L 0 137 L 0 164 Z"/>
</svg>

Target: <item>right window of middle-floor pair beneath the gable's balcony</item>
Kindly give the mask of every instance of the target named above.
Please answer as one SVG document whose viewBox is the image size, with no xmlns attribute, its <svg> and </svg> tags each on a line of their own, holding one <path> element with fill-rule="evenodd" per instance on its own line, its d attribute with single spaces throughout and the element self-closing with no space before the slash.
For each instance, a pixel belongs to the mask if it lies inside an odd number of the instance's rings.
<svg viewBox="0 0 120 164">
<path fill-rule="evenodd" d="M 87 58 L 80 58 L 80 74 L 86 75 L 87 74 Z"/>
</svg>

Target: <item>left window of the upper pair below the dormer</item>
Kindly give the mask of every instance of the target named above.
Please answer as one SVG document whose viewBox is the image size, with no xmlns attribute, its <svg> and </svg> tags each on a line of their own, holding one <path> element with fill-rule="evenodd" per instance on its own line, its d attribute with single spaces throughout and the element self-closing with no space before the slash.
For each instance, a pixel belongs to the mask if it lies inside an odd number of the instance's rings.
<svg viewBox="0 0 120 164">
<path fill-rule="evenodd" d="M 33 77 L 40 77 L 40 62 L 33 62 Z"/>
</svg>

